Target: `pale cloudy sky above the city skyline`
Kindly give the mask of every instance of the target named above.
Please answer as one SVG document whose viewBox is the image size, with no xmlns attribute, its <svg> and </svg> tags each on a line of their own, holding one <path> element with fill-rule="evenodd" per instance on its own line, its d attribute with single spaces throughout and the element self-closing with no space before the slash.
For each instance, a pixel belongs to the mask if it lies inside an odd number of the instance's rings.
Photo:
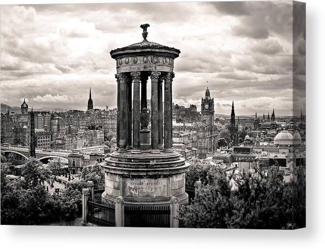
<svg viewBox="0 0 325 249">
<path fill-rule="evenodd" d="M 87 109 L 116 106 L 109 52 L 142 40 L 180 49 L 173 101 L 215 112 L 276 115 L 292 109 L 292 3 L 184 2 L 1 6 L 1 103 Z M 208 83 L 207 83 L 208 81 Z"/>
</svg>

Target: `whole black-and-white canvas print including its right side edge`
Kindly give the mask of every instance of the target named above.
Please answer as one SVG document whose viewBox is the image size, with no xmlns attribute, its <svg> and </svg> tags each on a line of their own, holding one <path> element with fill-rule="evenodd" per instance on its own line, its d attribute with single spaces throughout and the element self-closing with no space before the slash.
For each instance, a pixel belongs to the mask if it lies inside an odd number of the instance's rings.
<svg viewBox="0 0 325 249">
<path fill-rule="evenodd" d="M 1 225 L 305 227 L 305 3 L 0 8 Z"/>
</svg>

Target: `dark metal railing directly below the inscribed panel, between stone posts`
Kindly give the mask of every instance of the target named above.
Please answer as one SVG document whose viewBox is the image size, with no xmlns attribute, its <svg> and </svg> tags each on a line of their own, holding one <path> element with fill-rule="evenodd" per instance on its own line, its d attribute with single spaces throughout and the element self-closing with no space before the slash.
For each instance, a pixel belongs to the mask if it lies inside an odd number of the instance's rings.
<svg viewBox="0 0 325 249">
<path fill-rule="evenodd" d="M 124 206 L 124 226 L 170 227 L 170 205 Z"/>
</svg>

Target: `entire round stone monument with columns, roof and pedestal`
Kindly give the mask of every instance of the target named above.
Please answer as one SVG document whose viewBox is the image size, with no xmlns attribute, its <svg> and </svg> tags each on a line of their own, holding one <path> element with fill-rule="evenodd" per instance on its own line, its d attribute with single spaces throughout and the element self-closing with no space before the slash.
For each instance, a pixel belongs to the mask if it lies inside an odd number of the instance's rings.
<svg viewBox="0 0 325 249">
<path fill-rule="evenodd" d="M 184 204 L 188 202 L 185 172 L 189 164 L 173 150 L 172 136 L 173 68 L 180 51 L 148 41 L 149 25 L 140 27 L 142 42 L 110 53 L 117 65 L 117 148 L 102 163 L 102 198 L 115 202 L 122 197 L 124 205 L 130 206 L 159 206 L 169 205 L 175 196 Z M 149 78 L 151 110 L 147 108 Z"/>
</svg>

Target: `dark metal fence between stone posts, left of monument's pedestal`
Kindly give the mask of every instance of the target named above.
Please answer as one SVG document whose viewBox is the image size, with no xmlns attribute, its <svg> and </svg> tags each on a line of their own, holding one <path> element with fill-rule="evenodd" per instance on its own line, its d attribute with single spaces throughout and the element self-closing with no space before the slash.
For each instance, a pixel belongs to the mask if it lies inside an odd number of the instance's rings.
<svg viewBox="0 0 325 249">
<path fill-rule="evenodd" d="M 102 201 L 104 189 L 94 190 L 94 198 L 88 200 L 87 222 L 95 226 L 115 226 L 115 203 Z"/>
</svg>

